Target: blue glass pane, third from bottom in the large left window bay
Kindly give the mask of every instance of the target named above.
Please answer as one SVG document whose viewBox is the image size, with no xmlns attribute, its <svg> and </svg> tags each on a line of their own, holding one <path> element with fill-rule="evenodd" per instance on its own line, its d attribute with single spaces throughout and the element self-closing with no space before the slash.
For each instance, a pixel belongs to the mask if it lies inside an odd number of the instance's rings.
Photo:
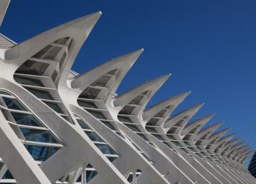
<svg viewBox="0 0 256 184">
<path fill-rule="evenodd" d="M 36 117 L 34 117 L 33 115 L 21 114 L 21 113 L 11 113 L 11 115 L 13 115 L 14 120 L 19 125 L 43 127 L 43 125 L 41 125 L 41 123 L 38 120 L 36 120 Z"/>
</svg>

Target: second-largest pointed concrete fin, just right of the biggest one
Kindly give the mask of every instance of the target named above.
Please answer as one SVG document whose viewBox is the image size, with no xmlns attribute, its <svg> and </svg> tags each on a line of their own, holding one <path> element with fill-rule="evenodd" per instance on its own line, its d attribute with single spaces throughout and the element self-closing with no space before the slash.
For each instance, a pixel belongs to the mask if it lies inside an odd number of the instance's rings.
<svg viewBox="0 0 256 184">
<path fill-rule="evenodd" d="M 115 57 L 114 59 L 110 59 L 109 61 L 100 64 L 100 66 L 90 69 L 90 71 L 87 71 L 84 74 L 75 76 L 75 78 L 71 82 L 71 87 L 80 88 L 82 93 L 82 91 L 84 91 L 87 86 L 90 86 L 90 84 L 95 82 L 101 76 L 107 74 L 109 71 L 112 71 L 114 69 L 119 69 L 121 73 L 119 74 L 118 79 L 115 80 L 115 87 L 112 89 L 112 93 L 114 93 L 120 82 L 124 78 L 125 74 L 127 74 L 129 69 L 132 67 L 134 62 L 136 62 L 142 52 L 143 49 L 140 49 L 134 52 L 130 52 L 129 54 L 122 55 L 120 57 Z"/>
</svg>

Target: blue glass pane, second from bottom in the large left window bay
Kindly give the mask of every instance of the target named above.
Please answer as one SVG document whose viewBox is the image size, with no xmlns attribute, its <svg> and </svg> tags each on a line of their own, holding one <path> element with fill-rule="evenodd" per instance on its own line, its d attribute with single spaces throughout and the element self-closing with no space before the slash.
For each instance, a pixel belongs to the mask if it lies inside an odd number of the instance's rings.
<svg viewBox="0 0 256 184">
<path fill-rule="evenodd" d="M 21 132 L 27 141 L 58 143 L 57 139 L 48 130 L 21 128 Z"/>
</svg>

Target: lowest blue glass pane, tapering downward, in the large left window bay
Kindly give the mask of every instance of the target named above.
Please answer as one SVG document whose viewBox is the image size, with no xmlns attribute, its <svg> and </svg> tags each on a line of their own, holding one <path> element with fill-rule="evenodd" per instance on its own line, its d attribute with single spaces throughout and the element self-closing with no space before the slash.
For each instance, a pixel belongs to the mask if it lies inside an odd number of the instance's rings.
<svg viewBox="0 0 256 184">
<path fill-rule="evenodd" d="M 46 161 L 46 159 L 60 149 L 59 147 L 36 146 L 28 144 L 25 144 L 24 146 L 26 149 L 28 149 L 28 152 L 36 161 Z"/>
</svg>

